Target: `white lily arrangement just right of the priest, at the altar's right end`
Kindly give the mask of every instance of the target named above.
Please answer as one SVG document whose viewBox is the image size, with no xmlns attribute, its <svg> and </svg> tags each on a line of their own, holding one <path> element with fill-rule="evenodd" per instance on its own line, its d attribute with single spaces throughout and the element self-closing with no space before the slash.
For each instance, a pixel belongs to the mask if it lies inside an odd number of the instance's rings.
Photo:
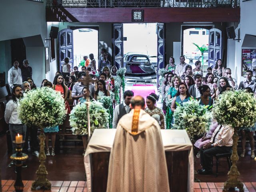
<svg viewBox="0 0 256 192">
<path fill-rule="evenodd" d="M 174 111 L 173 127 L 177 129 L 185 129 L 190 140 L 194 140 L 197 136 L 204 134 L 209 130 L 212 122 L 212 114 L 207 110 L 208 106 L 202 106 L 199 101 L 190 99 L 179 105 Z"/>
</svg>

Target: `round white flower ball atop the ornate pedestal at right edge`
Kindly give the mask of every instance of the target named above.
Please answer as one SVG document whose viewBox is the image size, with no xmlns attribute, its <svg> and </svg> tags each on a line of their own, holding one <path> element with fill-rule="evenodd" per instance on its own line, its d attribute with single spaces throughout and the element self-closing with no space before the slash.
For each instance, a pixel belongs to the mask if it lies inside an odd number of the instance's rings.
<svg viewBox="0 0 256 192">
<path fill-rule="evenodd" d="M 256 122 L 256 99 L 243 90 L 223 92 L 214 105 L 213 116 L 219 124 L 232 128 L 253 126 Z"/>
</svg>

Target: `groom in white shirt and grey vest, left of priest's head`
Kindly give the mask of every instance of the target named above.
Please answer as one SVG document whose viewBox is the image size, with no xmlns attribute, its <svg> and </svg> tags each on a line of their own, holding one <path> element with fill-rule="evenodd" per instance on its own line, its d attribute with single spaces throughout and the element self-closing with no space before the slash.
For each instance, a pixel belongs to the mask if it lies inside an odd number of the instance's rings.
<svg viewBox="0 0 256 192">
<path fill-rule="evenodd" d="M 126 90 L 124 92 L 124 102 L 116 106 L 114 110 L 114 118 L 112 123 L 113 129 L 116 129 L 116 126 L 120 118 L 130 112 L 131 109 L 129 105 L 133 96 L 134 93 L 131 90 Z"/>
</svg>

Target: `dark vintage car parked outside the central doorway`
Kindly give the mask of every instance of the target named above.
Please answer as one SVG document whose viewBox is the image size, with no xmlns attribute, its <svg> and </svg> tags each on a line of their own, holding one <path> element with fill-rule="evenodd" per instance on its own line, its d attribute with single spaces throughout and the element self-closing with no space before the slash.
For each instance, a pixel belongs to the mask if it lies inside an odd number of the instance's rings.
<svg viewBox="0 0 256 192">
<path fill-rule="evenodd" d="M 155 68 L 145 54 L 127 53 L 124 57 L 124 67 L 126 67 L 126 78 L 144 80 L 156 78 Z"/>
</svg>

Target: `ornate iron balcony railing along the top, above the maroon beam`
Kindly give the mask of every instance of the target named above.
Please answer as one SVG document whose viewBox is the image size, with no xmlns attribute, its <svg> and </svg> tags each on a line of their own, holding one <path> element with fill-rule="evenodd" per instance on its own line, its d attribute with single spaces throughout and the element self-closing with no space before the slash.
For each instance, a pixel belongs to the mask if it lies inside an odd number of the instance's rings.
<svg viewBox="0 0 256 192">
<path fill-rule="evenodd" d="M 165 7 L 165 8 L 216 8 L 240 7 L 239 0 L 47 0 L 47 7 Z"/>
</svg>

